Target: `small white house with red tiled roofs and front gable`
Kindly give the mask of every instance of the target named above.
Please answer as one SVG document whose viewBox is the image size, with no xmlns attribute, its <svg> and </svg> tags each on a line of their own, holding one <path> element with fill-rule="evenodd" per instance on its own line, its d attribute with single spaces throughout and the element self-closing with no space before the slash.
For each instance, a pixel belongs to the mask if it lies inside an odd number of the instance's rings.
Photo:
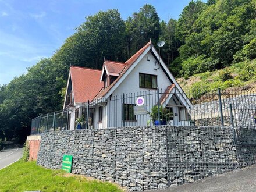
<svg viewBox="0 0 256 192">
<path fill-rule="evenodd" d="M 63 106 L 69 110 L 69 129 L 76 129 L 77 118 L 83 118 L 83 128 L 89 129 L 152 125 L 146 111 L 158 101 L 172 113 L 168 124 L 190 125 L 191 103 L 158 58 L 150 41 L 125 63 L 105 60 L 102 70 L 71 66 Z M 144 112 L 134 115 L 138 97 L 144 99 Z"/>
</svg>

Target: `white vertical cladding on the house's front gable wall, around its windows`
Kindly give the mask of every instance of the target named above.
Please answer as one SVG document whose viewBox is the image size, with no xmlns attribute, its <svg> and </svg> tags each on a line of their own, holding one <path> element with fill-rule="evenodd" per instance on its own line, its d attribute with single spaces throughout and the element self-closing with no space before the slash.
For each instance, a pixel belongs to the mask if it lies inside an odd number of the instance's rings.
<svg viewBox="0 0 256 192">
<path fill-rule="evenodd" d="M 166 76 L 165 72 L 163 72 L 162 68 L 158 68 L 158 63 L 156 63 L 156 59 L 148 51 L 147 54 L 141 59 L 141 61 L 136 66 L 133 67 L 133 70 L 128 74 L 125 80 L 120 83 L 120 85 L 116 88 L 116 90 L 112 94 L 111 101 L 108 102 L 108 127 L 122 127 L 123 119 L 122 119 L 122 97 L 125 94 L 125 104 L 136 104 L 136 98 L 140 94 L 148 93 L 148 88 L 140 88 L 139 84 L 139 74 L 152 74 L 157 76 L 157 86 L 159 90 L 165 90 L 167 86 L 170 86 L 172 83 Z M 154 70 L 157 69 L 157 70 Z M 147 92 L 146 92 L 147 91 Z M 144 99 L 147 101 L 147 111 L 150 111 L 152 106 L 157 104 L 157 90 L 152 89 L 150 93 L 154 94 L 154 96 L 145 97 Z M 125 121 L 125 126 L 138 126 L 138 125 L 147 125 L 150 122 L 149 115 L 137 115 L 136 121 Z M 151 123 L 152 125 L 152 123 Z"/>
</svg>

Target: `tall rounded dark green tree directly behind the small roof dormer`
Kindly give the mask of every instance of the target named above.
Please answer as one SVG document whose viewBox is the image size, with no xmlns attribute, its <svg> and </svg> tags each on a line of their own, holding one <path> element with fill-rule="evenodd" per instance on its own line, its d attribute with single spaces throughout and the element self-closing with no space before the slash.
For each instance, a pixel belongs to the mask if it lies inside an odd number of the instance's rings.
<svg viewBox="0 0 256 192">
<path fill-rule="evenodd" d="M 113 61 L 124 61 L 125 22 L 116 9 L 88 16 L 77 33 L 83 37 L 87 62 L 101 68 L 104 57 Z"/>
</svg>

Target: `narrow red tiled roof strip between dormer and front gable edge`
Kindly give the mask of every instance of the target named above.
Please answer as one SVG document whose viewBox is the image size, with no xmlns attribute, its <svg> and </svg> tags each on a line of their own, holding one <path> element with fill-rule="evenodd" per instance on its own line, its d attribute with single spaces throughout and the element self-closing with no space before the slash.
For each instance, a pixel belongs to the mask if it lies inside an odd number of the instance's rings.
<svg viewBox="0 0 256 192">
<path fill-rule="evenodd" d="M 94 98 L 94 99 L 99 99 L 101 97 L 104 97 L 104 95 L 106 93 L 108 93 L 108 91 L 116 84 L 116 82 L 118 82 L 118 80 L 123 76 L 123 74 L 125 74 L 125 72 L 130 68 L 131 65 L 133 65 L 133 63 L 138 59 L 138 57 L 145 51 L 145 49 L 147 49 L 149 46 L 151 45 L 151 41 L 148 42 L 143 48 L 141 48 L 138 52 L 136 52 L 136 54 L 134 54 L 133 56 L 131 56 L 130 59 L 128 59 L 125 63 L 127 64 L 127 66 L 123 69 L 122 73 L 118 76 L 118 78 L 108 87 L 106 87 L 105 89 L 102 89 L 99 94 Z"/>
</svg>

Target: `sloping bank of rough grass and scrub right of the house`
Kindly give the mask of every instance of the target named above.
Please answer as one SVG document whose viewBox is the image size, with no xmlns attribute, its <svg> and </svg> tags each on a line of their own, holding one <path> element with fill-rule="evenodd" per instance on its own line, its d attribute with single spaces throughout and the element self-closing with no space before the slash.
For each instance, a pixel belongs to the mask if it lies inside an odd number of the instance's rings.
<svg viewBox="0 0 256 192">
<path fill-rule="evenodd" d="M 194 74 L 188 79 L 177 79 L 186 93 L 199 96 L 218 88 L 226 90 L 226 93 L 237 93 L 237 91 L 256 91 L 256 59 L 233 64 L 225 69 Z"/>
</svg>

